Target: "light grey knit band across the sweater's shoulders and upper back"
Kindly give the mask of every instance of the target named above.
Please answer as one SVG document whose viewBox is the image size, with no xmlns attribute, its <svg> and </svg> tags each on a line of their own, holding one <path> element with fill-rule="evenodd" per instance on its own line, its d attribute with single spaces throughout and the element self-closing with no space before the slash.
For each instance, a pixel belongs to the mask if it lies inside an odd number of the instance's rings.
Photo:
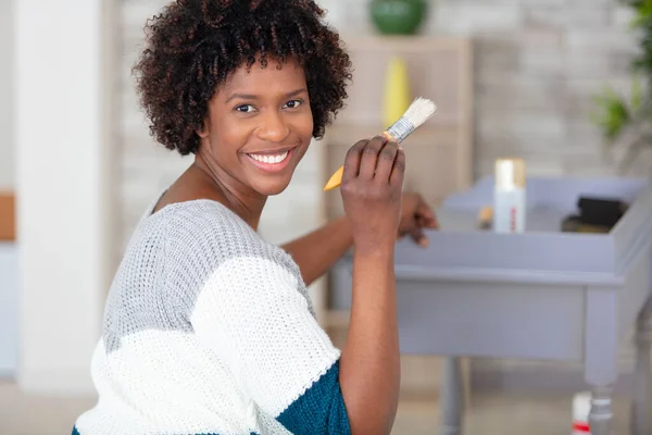
<svg viewBox="0 0 652 435">
<path fill-rule="evenodd" d="M 195 200 L 146 213 L 109 291 L 103 325 L 106 351 L 117 350 L 123 337 L 146 330 L 191 333 L 190 315 L 212 272 L 230 259 L 252 254 L 297 277 L 314 315 L 292 259 L 223 204 Z"/>
</svg>

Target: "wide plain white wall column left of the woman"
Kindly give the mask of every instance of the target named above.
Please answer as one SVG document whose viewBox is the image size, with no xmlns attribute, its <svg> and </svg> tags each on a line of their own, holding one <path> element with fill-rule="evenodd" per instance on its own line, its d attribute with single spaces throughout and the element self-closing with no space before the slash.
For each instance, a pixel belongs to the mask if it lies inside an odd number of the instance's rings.
<svg viewBox="0 0 652 435">
<path fill-rule="evenodd" d="M 28 393 L 93 391 L 113 223 L 103 35 L 113 3 L 15 3 L 17 377 Z"/>
</svg>

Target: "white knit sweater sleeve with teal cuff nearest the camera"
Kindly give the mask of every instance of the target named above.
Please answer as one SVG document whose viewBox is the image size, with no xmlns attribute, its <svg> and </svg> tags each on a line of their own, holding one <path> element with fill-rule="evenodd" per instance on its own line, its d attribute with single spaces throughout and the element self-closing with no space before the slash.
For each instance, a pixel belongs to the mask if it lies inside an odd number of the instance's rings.
<svg viewBox="0 0 652 435">
<path fill-rule="evenodd" d="M 198 296 L 192 326 L 289 432 L 349 434 L 340 352 L 298 288 L 296 275 L 272 259 L 229 259 Z"/>
</svg>

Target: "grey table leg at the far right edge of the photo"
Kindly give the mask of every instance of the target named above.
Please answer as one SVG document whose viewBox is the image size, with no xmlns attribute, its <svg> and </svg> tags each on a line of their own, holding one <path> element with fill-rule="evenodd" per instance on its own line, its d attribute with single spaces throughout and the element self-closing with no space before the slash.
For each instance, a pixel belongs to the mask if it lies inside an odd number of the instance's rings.
<svg viewBox="0 0 652 435">
<path fill-rule="evenodd" d="M 634 400 L 631 401 L 631 435 L 652 434 L 652 299 L 648 301 L 637 320 L 636 372 Z"/>
</svg>

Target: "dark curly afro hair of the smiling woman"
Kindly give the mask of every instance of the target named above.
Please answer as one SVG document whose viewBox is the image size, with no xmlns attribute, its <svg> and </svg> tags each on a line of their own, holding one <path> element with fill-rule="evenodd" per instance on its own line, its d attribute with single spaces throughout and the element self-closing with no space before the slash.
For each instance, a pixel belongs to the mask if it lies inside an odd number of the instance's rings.
<svg viewBox="0 0 652 435">
<path fill-rule="evenodd" d="M 347 98 L 351 62 L 338 34 L 312 0 L 177 0 L 146 25 L 147 46 L 134 66 L 152 136 L 181 156 L 196 153 L 197 130 L 216 87 L 256 60 L 294 59 L 305 71 L 313 137 Z"/>
</svg>

